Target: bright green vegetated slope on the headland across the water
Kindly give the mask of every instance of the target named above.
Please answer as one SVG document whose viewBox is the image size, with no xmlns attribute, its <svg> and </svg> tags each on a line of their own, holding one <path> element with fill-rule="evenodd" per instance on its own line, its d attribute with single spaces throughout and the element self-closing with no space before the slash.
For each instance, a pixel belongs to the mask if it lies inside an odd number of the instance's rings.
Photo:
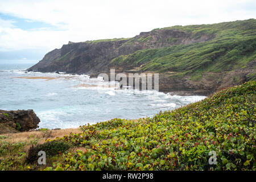
<svg viewBox="0 0 256 182">
<path fill-rule="evenodd" d="M 256 20 L 174 26 L 166 29 L 192 32 L 194 38 L 214 36 L 204 43 L 146 49 L 112 60 L 112 65 L 142 64 L 142 71 L 177 72 L 177 75 L 199 77 L 205 72 L 230 71 L 245 67 L 256 57 Z M 158 31 L 158 29 L 153 30 Z"/>
</svg>

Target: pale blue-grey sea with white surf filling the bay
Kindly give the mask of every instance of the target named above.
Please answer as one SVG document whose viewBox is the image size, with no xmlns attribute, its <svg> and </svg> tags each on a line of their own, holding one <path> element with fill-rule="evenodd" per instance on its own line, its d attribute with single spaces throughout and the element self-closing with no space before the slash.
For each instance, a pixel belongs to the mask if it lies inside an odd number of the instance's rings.
<svg viewBox="0 0 256 182">
<path fill-rule="evenodd" d="M 31 64 L 0 64 L 0 109 L 33 109 L 43 128 L 65 129 L 112 118 L 151 117 L 160 110 L 205 98 L 108 88 L 102 78 L 86 75 L 22 71 L 29 67 Z"/>
</svg>

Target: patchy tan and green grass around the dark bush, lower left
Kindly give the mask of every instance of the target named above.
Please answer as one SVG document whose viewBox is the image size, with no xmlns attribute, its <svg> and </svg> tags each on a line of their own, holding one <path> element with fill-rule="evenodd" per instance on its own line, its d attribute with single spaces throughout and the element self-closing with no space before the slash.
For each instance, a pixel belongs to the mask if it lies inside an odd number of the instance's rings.
<svg viewBox="0 0 256 182">
<path fill-rule="evenodd" d="M 36 160 L 34 162 L 27 161 L 28 152 L 32 146 L 38 146 L 38 144 L 46 142 L 47 139 L 56 139 L 56 137 L 64 137 L 71 133 L 82 133 L 82 131 L 80 128 L 76 128 L 0 134 L 2 136 L 0 138 L 0 147 L 3 146 L 4 148 L 0 154 L 0 170 L 42 170 L 46 167 L 51 167 L 53 162 L 56 163 L 63 160 L 61 155 L 48 156 L 47 164 L 39 165 Z M 3 141 L 9 144 L 6 145 Z M 3 145 L 1 146 L 2 142 Z M 86 148 L 72 146 L 67 151 L 75 152 L 76 150 L 85 151 Z"/>
</svg>

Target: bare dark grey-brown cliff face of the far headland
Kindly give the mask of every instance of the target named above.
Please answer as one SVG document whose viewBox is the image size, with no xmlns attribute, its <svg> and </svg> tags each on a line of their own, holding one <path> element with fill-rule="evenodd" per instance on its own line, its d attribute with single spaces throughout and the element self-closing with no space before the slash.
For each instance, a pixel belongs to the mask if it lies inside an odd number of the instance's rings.
<svg viewBox="0 0 256 182">
<path fill-rule="evenodd" d="M 129 55 L 142 49 L 158 49 L 179 44 L 205 42 L 212 36 L 202 34 L 193 38 L 192 33 L 175 30 L 156 30 L 141 32 L 130 39 L 96 40 L 63 45 L 44 56 L 29 71 L 101 73 L 108 71 L 111 60 L 121 55 Z"/>
</svg>

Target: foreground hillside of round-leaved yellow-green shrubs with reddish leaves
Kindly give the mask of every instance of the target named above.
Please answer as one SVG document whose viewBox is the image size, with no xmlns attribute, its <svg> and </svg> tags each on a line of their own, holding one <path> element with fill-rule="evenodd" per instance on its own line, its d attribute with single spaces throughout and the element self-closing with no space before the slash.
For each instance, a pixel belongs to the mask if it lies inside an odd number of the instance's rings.
<svg viewBox="0 0 256 182">
<path fill-rule="evenodd" d="M 46 169 L 255 170 L 255 88 L 256 82 L 250 81 L 153 118 L 112 119 L 83 126 L 81 133 L 48 141 L 47 146 L 57 140 L 72 149 L 48 156 Z M 2 141 L 0 169 L 46 167 L 36 161 L 28 164 L 24 146 L 24 142 Z M 38 150 L 47 146 L 38 146 Z M 46 152 L 58 154 L 58 150 Z M 216 152 L 217 165 L 209 165 L 210 151 Z"/>
</svg>

